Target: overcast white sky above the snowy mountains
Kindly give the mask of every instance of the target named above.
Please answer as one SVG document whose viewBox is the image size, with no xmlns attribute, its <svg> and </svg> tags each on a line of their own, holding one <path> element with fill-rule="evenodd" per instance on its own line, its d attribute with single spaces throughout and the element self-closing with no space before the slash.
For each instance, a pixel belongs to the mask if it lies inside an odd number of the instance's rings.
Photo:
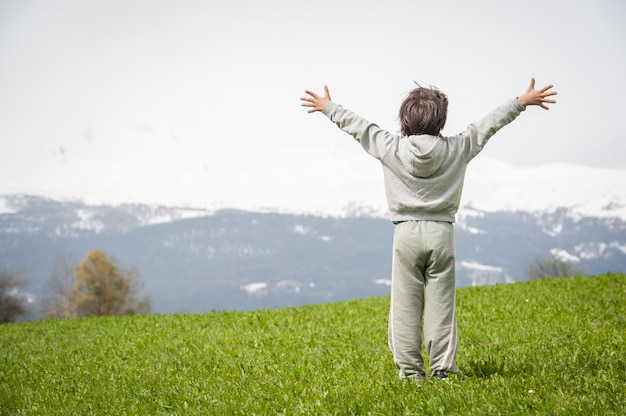
<svg viewBox="0 0 626 416">
<path fill-rule="evenodd" d="M 558 104 L 484 153 L 624 169 L 624 22 L 620 0 L 0 0 L 0 177 L 158 169 L 185 148 L 262 178 L 285 154 L 361 151 L 300 107 L 306 88 L 397 131 L 413 80 L 433 84 L 453 134 L 531 76 Z"/>
</svg>

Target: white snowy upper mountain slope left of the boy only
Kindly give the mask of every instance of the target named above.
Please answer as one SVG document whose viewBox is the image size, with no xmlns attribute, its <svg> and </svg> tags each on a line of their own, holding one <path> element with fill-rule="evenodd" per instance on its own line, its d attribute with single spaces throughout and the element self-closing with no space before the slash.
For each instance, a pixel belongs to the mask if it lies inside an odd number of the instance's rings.
<svg viewBox="0 0 626 416">
<path fill-rule="evenodd" d="M 145 148 L 145 153 L 125 154 L 120 136 Z M 106 137 L 116 137 L 111 141 L 83 140 L 39 155 L 34 166 L 0 174 L 0 194 L 80 199 L 90 204 L 147 203 L 332 216 L 365 209 L 385 215 L 380 167 L 349 138 L 346 142 L 353 145 L 347 146 L 349 151 L 341 146 L 301 151 L 262 142 L 207 140 L 193 132 L 183 136 L 136 129 L 109 132 Z"/>
</svg>

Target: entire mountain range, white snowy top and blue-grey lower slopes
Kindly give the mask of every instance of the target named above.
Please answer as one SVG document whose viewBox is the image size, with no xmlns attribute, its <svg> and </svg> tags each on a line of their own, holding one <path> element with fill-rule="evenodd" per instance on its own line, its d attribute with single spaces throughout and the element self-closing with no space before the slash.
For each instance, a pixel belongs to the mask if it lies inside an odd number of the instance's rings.
<svg viewBox="0 0 626 416">
<path fill-rule="evenodd" d="M 80 261 L 93 248 L 138 268 L 156 312 L 388 293 L 382 171 L 358 145 L 198 148 L 140 133 L 132 139 L 152 146 L 150 158 L 92 140 L 0 175 L 0 267 L 22 270 L 35 299 L 59 256 Z M 98 157 L 74 157 L 89 152 Z M 524 280 L 539 256 L 590 274 L 626 270 L 625 184 L 626 170 L 480 155 L 456 221 L 459 286 Z"/>
</svg>

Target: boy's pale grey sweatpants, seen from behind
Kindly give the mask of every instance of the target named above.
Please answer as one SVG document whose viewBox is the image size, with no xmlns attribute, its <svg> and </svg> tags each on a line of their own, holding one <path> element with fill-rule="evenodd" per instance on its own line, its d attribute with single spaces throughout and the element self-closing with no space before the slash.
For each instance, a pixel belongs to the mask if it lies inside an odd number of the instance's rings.
<svg viewBox="0 0 626 416">
<path fill-rule="evenodd" d="M 456 366 L 454 227 L 407 221 L 395 226 L 389 348 L 401 378 L 425 378 L 422 319 L 432 373 Z"/>
</svg>

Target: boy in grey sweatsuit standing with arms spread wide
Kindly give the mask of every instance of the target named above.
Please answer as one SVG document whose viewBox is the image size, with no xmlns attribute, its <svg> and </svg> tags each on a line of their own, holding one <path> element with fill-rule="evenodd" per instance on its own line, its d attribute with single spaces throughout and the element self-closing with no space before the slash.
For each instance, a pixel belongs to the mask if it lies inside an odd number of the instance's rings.
<svg viewBox="0 0 626 416">
<path fill-rule="evenodd" d="M 400 378 L 426 378 L 422 317 L 431 374 L 446 378 L 456 366 L 456 275 L 453 222 L 467 164 L 491 136 L 529 105 L 548 110 L 556 95 L 548 85 L 496 108 L 455 136 L 441 135 L 448 98 L 436 89 L 412 90 L 400 107 L 401 135 L 370 123 L 324 95 L 306 90 L 302 106 L 321 111 L 352 135 L 383 167 L 393 237 L 389 348 Z"/>
</svg>

